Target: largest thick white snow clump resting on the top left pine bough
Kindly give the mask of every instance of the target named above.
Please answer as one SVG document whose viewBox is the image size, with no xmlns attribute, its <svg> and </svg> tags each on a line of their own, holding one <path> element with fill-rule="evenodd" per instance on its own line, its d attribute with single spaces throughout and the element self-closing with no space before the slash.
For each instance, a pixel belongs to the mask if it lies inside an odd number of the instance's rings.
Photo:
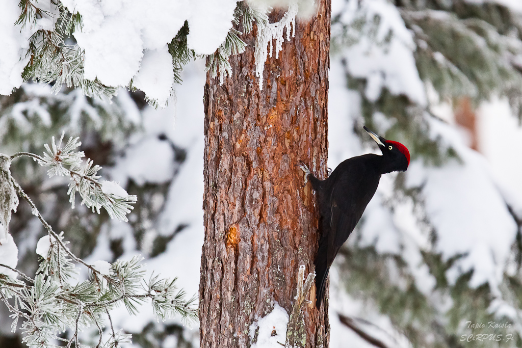
<svg viewBox="0 0 522 348">
<path fill-rule="evenodd" d="M 85 50 L 86 78 L 127 86 L 134 77 L 135 87 L 162 106 L 173 83 L 167 44 L 187 20 L 188 47 L 197 54 L 215 52 L 232 28 L 236 7 L 236 0 L 64 3 L 82 16 L 84 26 L 74 36 Z"/>
</svg>

